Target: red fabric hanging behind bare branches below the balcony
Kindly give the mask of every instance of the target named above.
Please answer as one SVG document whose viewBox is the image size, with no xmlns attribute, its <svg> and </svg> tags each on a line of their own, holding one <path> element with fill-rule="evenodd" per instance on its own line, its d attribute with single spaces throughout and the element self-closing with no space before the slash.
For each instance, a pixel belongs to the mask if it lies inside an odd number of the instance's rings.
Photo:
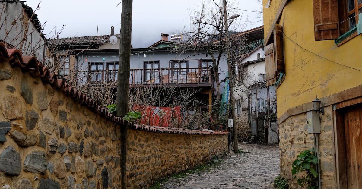
<svg viewBox="0 0 362 189">
<path fill-rule="evenodd" d="M 142 118 L 140 120 L 140 124 L 142 125 L 168 127 L 181 121 L 180 106 L 170 108 L 134 105 L 133 109 L 142 113 Z"/>
</svg>

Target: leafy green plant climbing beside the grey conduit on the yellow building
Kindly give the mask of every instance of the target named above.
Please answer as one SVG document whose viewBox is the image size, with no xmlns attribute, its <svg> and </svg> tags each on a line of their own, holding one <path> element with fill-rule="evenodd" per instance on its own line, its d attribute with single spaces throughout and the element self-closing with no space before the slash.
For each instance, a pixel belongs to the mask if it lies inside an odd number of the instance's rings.
<svg viewBox="0 0 362 189">
<path fill-rule="evenodd" d="M 300 153 L 296 160 L 292 164 L 292 175 L 295 179 L 295 175 L 299 172 L 307 172 L 306 177 L 302 177 L 297 180 L 299 186 L 307 185 L 307 189 L 317 189 L 318 173 L 316 171 L 318 164 L 318 158 L 314 155 L 314 148 L 310 150 L 304 150 Z"/>
</svg>

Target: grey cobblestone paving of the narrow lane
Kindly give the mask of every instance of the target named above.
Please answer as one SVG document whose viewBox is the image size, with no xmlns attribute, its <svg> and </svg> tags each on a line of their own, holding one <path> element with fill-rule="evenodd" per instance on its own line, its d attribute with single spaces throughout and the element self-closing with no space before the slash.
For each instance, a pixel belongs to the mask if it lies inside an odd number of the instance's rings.
<svg viewBox="0 0 362 189">
<path fill-rule="evenodd" d="M 274 146 L 239 143 L 248 152 L 228 153 L 222 163 L 209 171 L 192 173 L 184 178 L 172 178 L 161 184 L 163 189 L 268 189 L 279 175 L 279 149 Z"/>
</svg>

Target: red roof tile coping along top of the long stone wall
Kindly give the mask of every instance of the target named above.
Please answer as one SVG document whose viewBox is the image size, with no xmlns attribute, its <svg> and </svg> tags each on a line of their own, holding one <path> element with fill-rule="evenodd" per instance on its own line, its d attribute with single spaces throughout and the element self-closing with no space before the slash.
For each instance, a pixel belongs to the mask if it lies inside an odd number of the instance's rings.
<svg viewBox="0 0 362 189">
<path fill-rule="evenodd" d="M 122 126 L 128 126 L 130 129 L 150 131 L 155 133 L 196 135 L 216 135 L 228 133 L 220 131 L 214 131 L 214 133 L 209 133 L 207 131 L 172 127 L 134 125 L 132 122 L 125 121 L 124 119 L 116 117 L 114 114 L 109 113 L 106 108 L 101 108 L 101 106 L 98 106 L 91 98 L 77 91 L 76 89 L 74 89 L 74 87 L 69 86 L 68 83 L 64 82 L 64 80 L 58 79 L 56 74 L 53 74 L 49 71 L 48 67 L 43 67 L 41 64 L 39 64 L 35 56 L 23 56 L 21 55 L 21 52 L 19 50 L 7 49 L 4 43 L 0 43 L 0 61 L 9 62 L 11 67 L 19 67 L 23 73 L 29 72 L 32 77 L 40 77 L 44 84 L 50 84 L 50 86 L 55 88 L 56 90 L 63 92 L 65 95 L 70 96 L 73 100 L 79 101 L 81 104 L 87 106 L 87 108 L 89 108 L 92 112 L 100 114 L 109 121 L 115 122 Z"/>
</svg>

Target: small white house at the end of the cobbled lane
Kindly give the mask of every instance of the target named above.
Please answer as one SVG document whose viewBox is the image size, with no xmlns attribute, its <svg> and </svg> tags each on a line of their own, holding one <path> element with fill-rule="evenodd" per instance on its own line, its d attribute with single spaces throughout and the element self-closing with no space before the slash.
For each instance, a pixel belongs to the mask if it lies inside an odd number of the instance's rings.
<svg viewBox="0 0 362 189">
<path fill-rule="evenodd" d="M 237 64 L 236 122 L 239 140 L 268 138 L 268 115 L 276 112 L 275 85 L 266 87 L 264 46 L 245 53 Z M 277 141 L 276 141 L 277 142 Z"/>
</svg>

